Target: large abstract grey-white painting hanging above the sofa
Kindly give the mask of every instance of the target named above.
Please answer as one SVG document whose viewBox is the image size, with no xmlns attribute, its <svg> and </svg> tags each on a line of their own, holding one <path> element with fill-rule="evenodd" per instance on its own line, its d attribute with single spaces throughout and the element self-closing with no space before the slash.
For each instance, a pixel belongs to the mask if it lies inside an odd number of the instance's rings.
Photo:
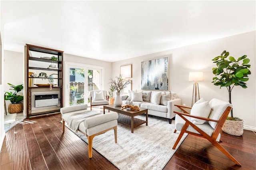
<svg viewBox="0 0 256 170">
<path fill-rule="evenodd" d="M 168 57 L 141 62 L 141 89 L 168 90 Z"/>
</svg>

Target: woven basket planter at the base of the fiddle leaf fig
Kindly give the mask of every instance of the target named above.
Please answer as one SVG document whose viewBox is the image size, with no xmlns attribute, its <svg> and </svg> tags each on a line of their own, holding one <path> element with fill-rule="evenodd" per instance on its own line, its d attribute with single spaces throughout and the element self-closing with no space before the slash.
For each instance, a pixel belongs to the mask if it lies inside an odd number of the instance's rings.
<svg viewBox="0 0 256 170">
<path fill-rule="evenodd" d="M 226 120 L 222 127 L 222 130 L 227 134 L 241 136 L 244 133 L 244 121 Z"/>
</svg>

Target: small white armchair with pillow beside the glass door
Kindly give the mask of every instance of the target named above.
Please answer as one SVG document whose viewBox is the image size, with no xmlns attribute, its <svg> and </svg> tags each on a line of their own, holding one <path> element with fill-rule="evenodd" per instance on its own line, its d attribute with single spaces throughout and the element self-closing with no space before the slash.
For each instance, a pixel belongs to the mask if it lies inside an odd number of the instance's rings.
<svg viewBox="0 0 256 170">
<path fill-rule="evenodd" d="M 106 90 L 92 90 L 90 96 L 91 110 L 92 106 L 108 105 L 108 95 Z"/>
</svg>

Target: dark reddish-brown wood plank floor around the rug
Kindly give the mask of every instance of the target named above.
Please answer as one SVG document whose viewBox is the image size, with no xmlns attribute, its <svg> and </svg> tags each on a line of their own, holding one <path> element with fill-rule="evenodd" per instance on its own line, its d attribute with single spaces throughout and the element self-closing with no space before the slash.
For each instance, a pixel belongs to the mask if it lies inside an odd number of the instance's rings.
<svg viewBox="0 0 256 170">
<path fill-rule="evenodd" d="M 88 145 L 68 128 L 62 134 L 60 120 L 60 114 L 38 117 L 10 129 L 2 145 L 0 169 L 117 169 L 95 150 L 93 157 L 89 159 Z M 244 130 L 242 136 L 231 136 L 223 132 L 222 140 L 221 145 L 242 164 L 242 167 L 236 166 L 207 140 L 188 135 L 164 169 L 256 169 L 254 132 Z"/>
</svg>

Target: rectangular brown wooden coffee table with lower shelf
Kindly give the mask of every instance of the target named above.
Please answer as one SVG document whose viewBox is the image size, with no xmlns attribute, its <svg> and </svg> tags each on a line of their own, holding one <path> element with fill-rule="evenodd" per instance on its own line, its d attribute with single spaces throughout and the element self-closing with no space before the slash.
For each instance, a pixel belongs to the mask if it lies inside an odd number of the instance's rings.
<svg viewBox="0 0 256 170">
<path fill-rule="evenodd" d="M 117 112 L 118 113 L 117 121 L 124 125 L 130 126 L 132 128 L 131 130 L 132 133 L 135 127 L 138 127 L 144 123 L 146 123 L 146 126 L 148 126 L 148 109 L 140 107 L 140 111 L 132 111 L 128 109 L 122 110 L 121 107 L 122 106 L 104 105 L 103 114 L 105 114 L 105 109 Z M 144 113 L 146 113 L 146 121 L 135 118 L 135 116 L 142 115 Z"/>
</svg>

